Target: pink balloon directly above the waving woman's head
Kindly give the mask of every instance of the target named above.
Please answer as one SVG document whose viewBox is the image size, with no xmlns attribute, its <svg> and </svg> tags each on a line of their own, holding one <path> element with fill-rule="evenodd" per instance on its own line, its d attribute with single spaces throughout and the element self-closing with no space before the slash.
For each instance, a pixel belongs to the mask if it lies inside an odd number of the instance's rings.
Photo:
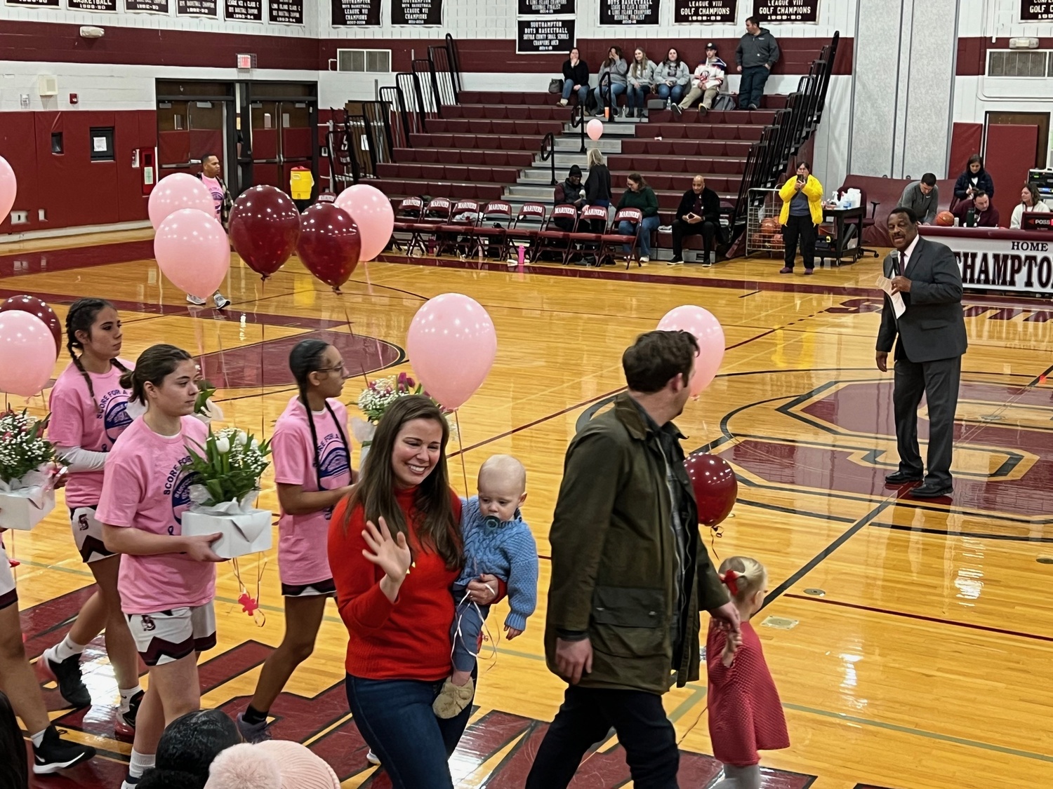
<svg viewBox="0 0 1053 789">
<path fill-rule="evenodd" d="M 413 317 L 405 349 L 428 393 L 454 410 L 486 380 L 497 356 L 497 332 L 475 299 L 442 294 Z"/>
</svg>

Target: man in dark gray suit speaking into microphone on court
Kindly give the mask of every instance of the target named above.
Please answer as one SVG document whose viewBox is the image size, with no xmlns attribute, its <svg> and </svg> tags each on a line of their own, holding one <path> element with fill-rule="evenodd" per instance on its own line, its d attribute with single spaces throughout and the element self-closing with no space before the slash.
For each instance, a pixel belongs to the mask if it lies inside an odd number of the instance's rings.
<svg viewBox="0 0 1053 789">
<path fill-rule="evenodd" d="M 961 274 L 947 246 L 918 236 L 918 218 L 910 208 L 895 208 L 889 215 L 889 236 L 895 251 L 885 259 L 885 276 L 892 280 L 893 292 L 902 296 L 907 311 L 897 319 L 886 295 L 876 361 L 877 368 L 887 372 L 898 336 L 893 405 L 899 470 L 885 480 L 890 485 L 922 481 L 917 409 L 923 392 L 929 405 L 929 473 L 910 495 L 938 499 L 954 492 L 954 411 L 967 347 Z"/>
</svg>

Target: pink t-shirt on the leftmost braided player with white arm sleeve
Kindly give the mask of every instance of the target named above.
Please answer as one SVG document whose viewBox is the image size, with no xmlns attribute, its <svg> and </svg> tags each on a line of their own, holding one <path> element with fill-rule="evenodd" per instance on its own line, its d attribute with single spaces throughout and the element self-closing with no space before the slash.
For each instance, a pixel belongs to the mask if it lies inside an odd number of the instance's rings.
<svg viewBox="0 0 1053 789">
<path fill-rule="evenodd" d="M 134 364 L 118 360 L 127 369 Z M 90 452 L 108 452 L 117 437 L 132 424 L 127 413 L 128 392 L 119 383 L 121 370 L 111 367 L 106 372 L 88 372 L 95 401 L 87 390 L 84 376 L 72 362 L 55 380 L 48 409 L 47 440 L 63 447 L 79 446 Z M 95 403 L 99 404 L 96 408 Z M 102 471 L 76 471 L 65 486 L 66 506 L 94 507 L 102 492 Z"/>
</svg>

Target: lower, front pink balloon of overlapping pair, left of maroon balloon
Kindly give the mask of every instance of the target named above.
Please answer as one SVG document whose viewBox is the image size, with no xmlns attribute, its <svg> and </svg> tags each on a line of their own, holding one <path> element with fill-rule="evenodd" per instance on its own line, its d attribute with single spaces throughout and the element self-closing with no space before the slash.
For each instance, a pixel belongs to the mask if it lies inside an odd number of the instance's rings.
<svg viewBox="0 0 1053 789">
<path fill-rule="evenodd" d="M 207 299 L 231 268 L 231 244 L 211 214 L 182 208 L 157 228 L 154 257 L 173 285 Z"/>
</svg>

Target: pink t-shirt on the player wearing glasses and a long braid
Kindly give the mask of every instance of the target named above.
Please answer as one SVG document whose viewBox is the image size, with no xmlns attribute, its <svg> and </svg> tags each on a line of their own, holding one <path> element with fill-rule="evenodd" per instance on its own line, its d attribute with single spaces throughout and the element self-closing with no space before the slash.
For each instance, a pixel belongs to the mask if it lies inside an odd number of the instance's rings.
<svg viewBox="0 0 1053 789">
<path fill-rule="evenodd" d="M 315 453 L 311 451 L 311 425 L 307 411 L 298 397 L 289 401 L 274 426 L 271 449 L 274 460 L 274 481 L 283 485 L 302 485 L 306 491 L 318 490 L 321 476 L 323 490 L 351 484 L 351 458 L 340 431 L 347 436 L 347 409 L 330 400 L 340 430 L 329 410 L 314 413 L 318 436 L 318 473 Z M 278 521 L 278 574 L 281 583 L 305 586 L 333 578 L 326 544 L 333 508 L 304 515 L 282 513 Z"/>
</svg>

